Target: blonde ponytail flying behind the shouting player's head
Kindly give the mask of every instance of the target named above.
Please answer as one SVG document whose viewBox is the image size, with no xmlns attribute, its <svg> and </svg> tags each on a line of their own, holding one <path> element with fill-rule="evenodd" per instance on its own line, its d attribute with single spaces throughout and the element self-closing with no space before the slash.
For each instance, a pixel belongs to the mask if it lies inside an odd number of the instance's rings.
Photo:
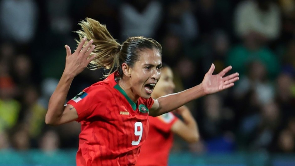
<svg viewBox="0 0 295 166">
<path fill-rule="evenodd" d="M 94 19 L 86 18 L 85 21 L 79 23 L 82 30 L 75 31 L 78 33 L 80 40 L 76 40 L 79 44 L 81 40 L 86 37 L 87 41 L 93 40 L 95 49 L 90 56 L 96 57 L 90 62 L 89 69 L 95 70 L 105 67 L 110 69 L 110 72 L 119 66 L 118 54 L 121 49 L 121 45 L 110 35 L 110 32 L 106 29 L 105 25 L 99 23 Z M 85 42 L 84 46 L 87 44 Z M 110 73 L 108 73 L 109 75 Z"/>
</svg>

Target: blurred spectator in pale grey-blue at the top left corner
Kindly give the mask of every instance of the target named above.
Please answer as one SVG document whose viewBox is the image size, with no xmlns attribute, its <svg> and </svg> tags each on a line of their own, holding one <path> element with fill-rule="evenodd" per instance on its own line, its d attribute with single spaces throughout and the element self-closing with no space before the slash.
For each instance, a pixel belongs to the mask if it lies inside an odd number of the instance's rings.
<svg viewBox="0 0 295 166">
<path fill-rule="evenodd" d="M 24 49 L 29 46 L 37 28 L 38 8 L 35 1 L 3 0 L 0 3 L 0 12 L 2 37 Z"/>
</svg>

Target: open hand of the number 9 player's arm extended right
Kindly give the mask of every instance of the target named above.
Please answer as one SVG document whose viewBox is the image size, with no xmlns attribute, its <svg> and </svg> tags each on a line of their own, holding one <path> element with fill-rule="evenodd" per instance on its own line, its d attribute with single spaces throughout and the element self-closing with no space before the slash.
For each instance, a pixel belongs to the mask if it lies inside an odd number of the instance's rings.
<svg viewBox="0 0 295 166">
<path fill-rule="evenodd" d="M 215 66 L 212 63 L 209 71 L 205 74 L 205 77 L 201 83 L 201 86 L 205 94 L 213 94 L 224 89 L 230 88 L 234 85 L 234 82 L 239 80 L 239 73 L 233 73 L 229 76 L 223 77 L 228 71 L 232 69 L 231 66 L 226 67 L 216 75 L 212 75 Z"/>
</svg>

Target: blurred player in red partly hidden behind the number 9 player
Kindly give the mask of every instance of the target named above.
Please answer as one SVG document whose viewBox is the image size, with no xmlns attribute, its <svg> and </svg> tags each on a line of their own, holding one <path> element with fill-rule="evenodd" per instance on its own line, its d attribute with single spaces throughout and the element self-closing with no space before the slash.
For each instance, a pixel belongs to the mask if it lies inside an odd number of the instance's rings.
<svg viewBox="0 0 295 166">
<path fill-rule="evenodd" d="M 173 72 L 170 67 L 162 65 L 161 78 L 153 89 L 152 98 L 172 94 L 174 91 Z M 137 166 L 167 166 L 169 151 L 173 144 L 173 133 L 187 142 L 199 140 L 199 130 L 194 117 L 187 107 L 176 109 L 183 121 L 171 112 L 157 117 L 149 117 L 149 132 L 140 149 Z"/>
</svg>

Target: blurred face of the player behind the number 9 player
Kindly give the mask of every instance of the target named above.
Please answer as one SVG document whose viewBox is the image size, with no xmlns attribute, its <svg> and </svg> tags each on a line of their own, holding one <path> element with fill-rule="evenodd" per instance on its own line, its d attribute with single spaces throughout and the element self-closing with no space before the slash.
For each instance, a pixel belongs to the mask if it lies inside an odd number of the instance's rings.
<svg viewBox="0 0 295 166">
<path fill-rule="evenodd" d="M 154 88 L 153 98 L 159 98 L 174 92 L 173 72 L 169 67 L 162 68 L 161 78 Z"/>
</svg>

